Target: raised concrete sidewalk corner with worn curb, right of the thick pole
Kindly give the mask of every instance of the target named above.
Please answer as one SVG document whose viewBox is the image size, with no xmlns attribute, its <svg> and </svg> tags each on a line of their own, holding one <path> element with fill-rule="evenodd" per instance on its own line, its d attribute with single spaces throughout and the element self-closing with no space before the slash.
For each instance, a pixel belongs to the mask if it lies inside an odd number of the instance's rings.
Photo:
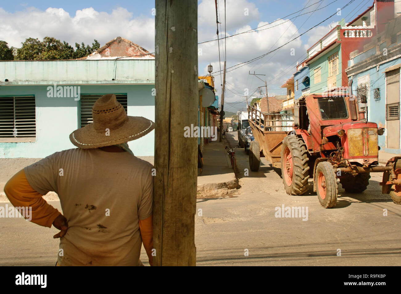
<svg viewBox="0 0 401 294">
<path fill-rule="evenodd" d="M 224 150 L 224 140 L 211 141 L 203 150 L 203 171 L 198 169 L 197 199 L 230 197 L 238 187 L 231 161 Z M 232 196 L 232 195 L 231 195 Z"/>
</svg>

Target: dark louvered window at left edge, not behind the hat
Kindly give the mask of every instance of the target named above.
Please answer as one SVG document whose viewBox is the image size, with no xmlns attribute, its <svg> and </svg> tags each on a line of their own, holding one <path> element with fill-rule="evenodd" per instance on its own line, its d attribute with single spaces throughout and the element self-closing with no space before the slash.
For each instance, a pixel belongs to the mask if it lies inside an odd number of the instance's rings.
<svg viewBox="0 0 401 294">
<path fill-rule="evenodd" d="M 35 97 L 0 97 L 0 138 L 35 136 Z"/>
</svg>

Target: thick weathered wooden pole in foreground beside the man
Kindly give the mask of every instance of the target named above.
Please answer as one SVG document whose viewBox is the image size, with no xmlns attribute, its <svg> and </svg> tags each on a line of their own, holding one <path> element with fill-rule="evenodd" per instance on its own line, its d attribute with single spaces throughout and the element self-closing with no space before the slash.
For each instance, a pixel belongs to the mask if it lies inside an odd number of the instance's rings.
<svg viewBox="0 0 401 294">
<path fill-rule="evenodd" d="M 198 2 L 156 0 L 154 266 L 195 266 Z"/>
</svg>

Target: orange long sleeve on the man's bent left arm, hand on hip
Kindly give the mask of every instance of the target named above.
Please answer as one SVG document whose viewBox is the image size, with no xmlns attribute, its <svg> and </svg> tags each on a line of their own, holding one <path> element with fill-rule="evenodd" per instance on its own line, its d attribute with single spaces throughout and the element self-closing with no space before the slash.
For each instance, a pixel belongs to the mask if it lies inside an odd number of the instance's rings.
<svg viewBox="0 0 401 294">
<path fill-rule="evenodd" d="M 32 208 L 32 223 L 50 228 L 56 217 L 61 214 L 29 185 L 24 170 L 20 170 L 8 180 L 4 186 L 4 193 L 14 207 Z"/>
</svg>

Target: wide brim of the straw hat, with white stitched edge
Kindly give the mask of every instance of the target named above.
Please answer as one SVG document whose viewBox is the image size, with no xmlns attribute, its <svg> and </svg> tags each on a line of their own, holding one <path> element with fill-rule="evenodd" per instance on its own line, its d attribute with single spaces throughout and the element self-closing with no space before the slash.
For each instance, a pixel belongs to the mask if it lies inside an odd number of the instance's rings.
<svg viewBox="0 0 401 294">
<path fill-rule="evenodd" d="M 154 129 L 154 122 L 141 116 L 128 116 L 124 124 L 114 130 L 99 132 L 93 123 L 70 134 L 71 143 L 83 149 L 99 148 L 139 139 Z"/>
</svg>

